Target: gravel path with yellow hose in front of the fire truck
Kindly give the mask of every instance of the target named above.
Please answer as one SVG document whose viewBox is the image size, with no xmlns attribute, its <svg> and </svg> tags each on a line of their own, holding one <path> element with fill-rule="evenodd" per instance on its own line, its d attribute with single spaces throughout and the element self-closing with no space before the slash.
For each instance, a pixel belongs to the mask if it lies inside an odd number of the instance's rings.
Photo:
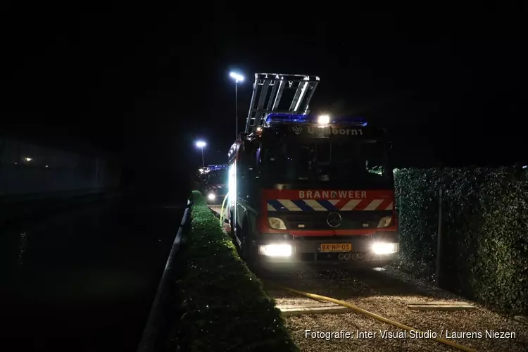
<svg viewBox="0 0 528 352">
<path fill-rule="evenodd" d="M 273 282 L 293 289 L 313 294 L 329 296 L 353 303 L 360 308 L 385 318 L 396 320 L 401 324 L 422 330 L 436 332 L 446 338 L 446 330 L 453 333 L 481 333 L 482 337 L 461 338 L 448 337 L 458 344 L 474 348 L 477 351 L 515 352 L 528 351 L 528 326 L 520 322 L 493 313 L 482 306 L 476 310 L 452 312 L 413 311 L 406 308 L 407 301 L 467 301 L 454 294 L 436 289 L 409 275 L 393 269 L 383 271 L 368 270 L 363 272 L 291 272 L 282 277 L 273 277 Z M 291 294 L 266 284 L 266 289 L 273 296 L 277 305 L 313 304 L 310 298 Z M 379 322 L 360 313 L 303 315 L 286 318 L 287 325 L 301 351 L 456 351 L 436 341 L 411 338 L 382 337 L 381 332 L 403 332 L 392 325 Z M 310 332 L 335 332 L 337 337 L 325 339 L 306 337 Z M 514 332 L 515 338 L 486 338 L 486 330 L 495 332 Z M 370 333 L 371 337 L 358 338 L 357 332 Z M 352 338 L 346 337 L 346 332 Z M 375 333 L 375 334 L 373 334 Z M 373 336 L 372 336 L 373 335 Z M 341 338 L 339 337 L 341 336 Z M 439 336 L 440 337 L 440 336 Z"/>
</svg>

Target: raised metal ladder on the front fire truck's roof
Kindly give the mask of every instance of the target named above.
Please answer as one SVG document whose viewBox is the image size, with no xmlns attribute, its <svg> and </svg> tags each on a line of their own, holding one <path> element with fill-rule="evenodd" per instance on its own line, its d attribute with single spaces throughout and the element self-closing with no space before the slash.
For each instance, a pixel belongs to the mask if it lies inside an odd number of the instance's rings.
<svg viewBox="0 0 528 352">
<path fill-rule="evenodd" d="M 256 132 L 269 113 L 308 114 L 318 83 L 318 76 L 256 73 L 245 132 Z"/>
</svg>

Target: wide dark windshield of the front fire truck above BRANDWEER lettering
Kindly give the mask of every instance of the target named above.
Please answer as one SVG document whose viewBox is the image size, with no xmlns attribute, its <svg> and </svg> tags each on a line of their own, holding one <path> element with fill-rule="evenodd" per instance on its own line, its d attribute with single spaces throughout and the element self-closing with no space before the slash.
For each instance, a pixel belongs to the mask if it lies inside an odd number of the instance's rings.
<svg viewBox="0 0 528 352">
<path fill-rule="evenodd" d="M 386 144 L 287 140 L 265 148 L 266 179 L 272 183 L 306 183 L 310 187 L 392 187 Z"/>
</svg>

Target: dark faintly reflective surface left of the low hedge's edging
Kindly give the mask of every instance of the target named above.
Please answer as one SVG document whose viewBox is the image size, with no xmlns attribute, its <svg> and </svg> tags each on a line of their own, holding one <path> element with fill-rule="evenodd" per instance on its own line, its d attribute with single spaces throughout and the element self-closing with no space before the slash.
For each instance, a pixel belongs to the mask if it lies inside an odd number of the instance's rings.
<svg viewBox="0 0 528 352">
<path fill-rule="evenodd" d="M 0 348 L 135 351 L 184 205 L 113 201 L 1 229 Z"/>
</svg>

